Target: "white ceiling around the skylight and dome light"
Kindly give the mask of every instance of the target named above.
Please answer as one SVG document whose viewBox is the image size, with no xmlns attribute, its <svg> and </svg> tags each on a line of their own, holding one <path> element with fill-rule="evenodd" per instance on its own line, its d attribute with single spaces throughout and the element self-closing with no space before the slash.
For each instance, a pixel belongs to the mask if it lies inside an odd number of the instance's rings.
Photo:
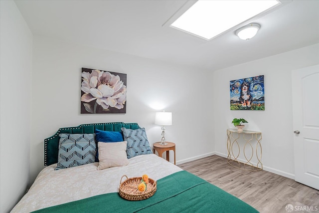
<svg viewBox="0 0 319 213">
<path fill-rule="evenodd" d="M 210 41 L 164 24 L 186 0 L 15 2 L 34 35 L 209 70 L 319 43 L 319 0 L 292 0 Z M 259 32 L 239 39 L 234 31 L 250 22 Z"/>
</svg>

